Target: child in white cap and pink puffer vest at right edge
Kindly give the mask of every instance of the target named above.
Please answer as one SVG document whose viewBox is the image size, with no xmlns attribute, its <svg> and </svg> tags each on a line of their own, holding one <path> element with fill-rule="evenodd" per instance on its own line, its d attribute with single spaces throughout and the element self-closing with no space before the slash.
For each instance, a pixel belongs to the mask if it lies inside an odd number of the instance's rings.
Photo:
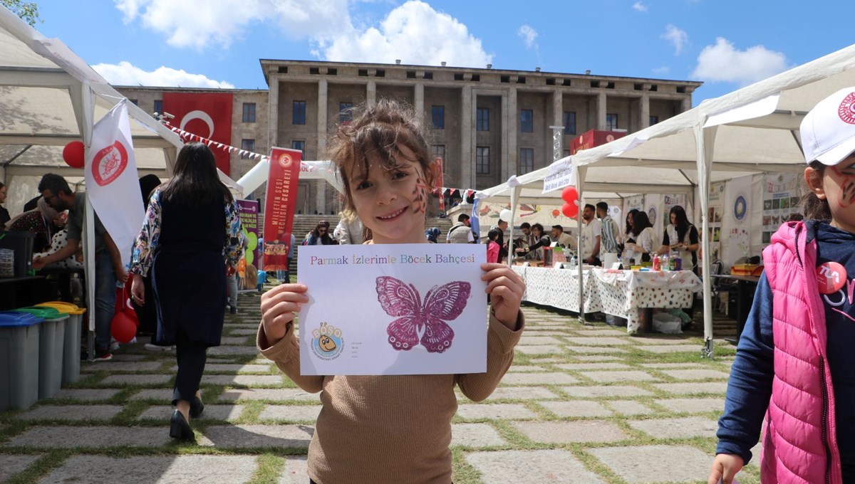
<svg viewBox="0 0 855 484">
<path fill-rule="evenodd" d="M 855 87 L 819 102 L 801 140 L 805 221 L 764 250 L 710 483 L 734 480 L 762 424 L 761 481 L 855 482 Z"/>
</svg>

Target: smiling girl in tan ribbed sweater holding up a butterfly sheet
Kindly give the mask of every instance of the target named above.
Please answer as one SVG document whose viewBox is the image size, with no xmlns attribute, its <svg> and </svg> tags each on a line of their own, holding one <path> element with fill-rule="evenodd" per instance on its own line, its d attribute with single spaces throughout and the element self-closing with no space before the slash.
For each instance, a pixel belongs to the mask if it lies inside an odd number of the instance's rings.
<svg viewBox="0 0 855 484">
<path fill-rule="evenodd" d="M 416 117 L 381 100 L 357 109 L 327 143 L 344 184 L 345 214 L 358 214 L 366 243 L 428 243 L 424 236 L 432 157 Z M 293 382 L 321 392 L 321 413 L 309 446 L 311 481 L 451 481 L 451 417 L 457 385 L 469 399 L 486 399 L 513 360 L 522 333 L 522 279 L 509 267 L 481 265 L 492 295 L 486 373 L 416 376 L 301 376 L 293 320 L 309 302 L 304 284 L 282 284 L 262 295 L 257 345 Z M 356 308 L 354 308 L 356 309 Z M 322 391 L 321 391 L 322 390 Z"/>
</svg>

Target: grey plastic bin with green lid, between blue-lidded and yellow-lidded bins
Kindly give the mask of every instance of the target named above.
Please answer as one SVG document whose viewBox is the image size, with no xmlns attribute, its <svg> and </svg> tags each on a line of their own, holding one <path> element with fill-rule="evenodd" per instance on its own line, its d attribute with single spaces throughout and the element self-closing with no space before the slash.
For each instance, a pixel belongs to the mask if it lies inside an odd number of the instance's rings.
<svg viewBox="0 0 855 484">
<path fill-rule="evenodd" d="M 19 307 L 15 311 L 44 318 L 38 336 L 38 398 L 50 399 L 62 388 L 62 345 L 68 313 L 46 306 Z"/>
</svg>

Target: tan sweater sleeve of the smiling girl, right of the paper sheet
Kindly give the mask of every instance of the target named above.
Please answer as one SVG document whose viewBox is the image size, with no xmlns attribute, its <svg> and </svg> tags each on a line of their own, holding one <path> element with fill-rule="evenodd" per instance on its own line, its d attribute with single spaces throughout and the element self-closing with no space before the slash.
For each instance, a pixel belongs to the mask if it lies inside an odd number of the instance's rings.
<svg viewBox="0 0 855 484">
<path fill-rule="evenodd" d="M 490 323 L 486 333 L 486 372 L 457 375 L 457 386 L 466 398 L 480 402 L 492 394 L 498 382 L 514 361 L 514 347 L 520 341 L 525 318 L 522 311 L 516 316 L 516 330 L 498 322 L 490 309 Z"/>
</svg>

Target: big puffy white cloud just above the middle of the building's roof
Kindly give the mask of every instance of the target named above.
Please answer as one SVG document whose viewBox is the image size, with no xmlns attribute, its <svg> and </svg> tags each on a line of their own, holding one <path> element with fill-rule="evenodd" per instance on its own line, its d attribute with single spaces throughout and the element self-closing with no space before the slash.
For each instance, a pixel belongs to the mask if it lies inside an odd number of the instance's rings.
<svg viewBox="0 0 855 484">
<path fill-rule="evenodd" d="M 327 61 L 394 62 L 439 66 L 484 67 L 492 63 L 481 40 L 451 15 L 437 12 L 428 3 L 410 0 L 392 9 L 380 22 L 360 32 L 351 28 L 323 38 L 315 37 L 318 51 Z"/>
</svg>

